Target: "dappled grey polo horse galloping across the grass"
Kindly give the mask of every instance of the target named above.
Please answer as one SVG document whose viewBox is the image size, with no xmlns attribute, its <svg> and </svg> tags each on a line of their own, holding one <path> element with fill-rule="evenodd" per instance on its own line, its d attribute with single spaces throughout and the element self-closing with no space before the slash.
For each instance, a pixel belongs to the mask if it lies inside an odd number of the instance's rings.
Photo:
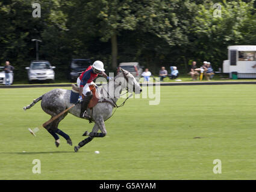
<svg viewBox="0 0 256 192">
<path fill-rule="evenodd" d="M 94 137 L 105 137 L 107 130 L 105 128 L 104 121 L 111 117 L 113 108 L 117 107 L 116 102 L 118 98 L 120 98 L 120 94 L 123 89 L 126 89 L 128 92 L 135 92 L 135 94 L 140 94 L 142 91 L 140 84 L 131 73 L 123 70 L 122 68 L 120 68 L 120 71 L 121 73 L 117 74 L 117 76 L 114 77 L 114 80 L 110 80 L 110 82 L 98 88 L 99 102 L 93 107 L 92 110 L 87 110 L 87 113 L 92 115 L 92 120 L 95 122 L 95 125 L 93 126 L 91 133 L 86 131 L 83 134 L 83 136 L 89 137 L 78 143 L 78 146 L 75 146 L 75 152 L 77 152 L 82 146 L 89 143 Z M 53 118 L 72 106 L 72 103 L 70 103 L 70 94 L 71 90 L 53 89 L 52 91 L 46 92 L 41 97 L 34 100 L 33 103 L 25 107 L 25 109 L 30 109 L 32 106 L 34 106 L 34 104 L 42 100 L 42 109 L 51 115 L 51 118 Z M 72 145 L 72 140 L 66 133 L 58 129 L 58 124 L 62 119 L 65 118 L 67 113 L 71 113 L 72 115 L 80 118 L 80 111 L 81 104 L 76 104 L 68 112 L 64 113 L 44 127 L 49 131 L 49 133 L 52 134 L 55 140 L 58 139 L 57 134 L 60 134 L 67 140 L 69 145 Z M 101 133 L 98 133 L 98 130 L 101 130 Z"/>
</svg>

